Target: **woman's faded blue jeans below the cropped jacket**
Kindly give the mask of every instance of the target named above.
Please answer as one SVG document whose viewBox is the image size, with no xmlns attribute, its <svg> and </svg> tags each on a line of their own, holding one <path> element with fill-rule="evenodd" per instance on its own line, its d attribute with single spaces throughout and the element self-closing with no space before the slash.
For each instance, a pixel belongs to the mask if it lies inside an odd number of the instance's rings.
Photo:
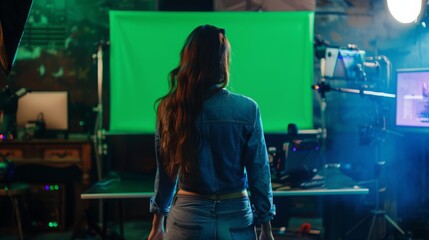
<svg viewBox="0 0 429 240">
<path fill-rule="evenodd" d="M 167 240 L 255 240 L 248 197 L 210 200 L 177 195 L 167 218 Z"/>
</svg>

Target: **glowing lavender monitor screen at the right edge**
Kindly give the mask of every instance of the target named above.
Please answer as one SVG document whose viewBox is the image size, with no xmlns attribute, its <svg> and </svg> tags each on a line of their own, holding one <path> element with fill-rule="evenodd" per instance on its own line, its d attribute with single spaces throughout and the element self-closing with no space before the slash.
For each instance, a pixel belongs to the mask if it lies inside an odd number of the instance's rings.
<svg viewBox="0 0 429 240">
<path fill-rule="evenodd" d="M 395 117 L 400 129 L 429 130 L 429 68 L 397 70 Z"/>
</svg>

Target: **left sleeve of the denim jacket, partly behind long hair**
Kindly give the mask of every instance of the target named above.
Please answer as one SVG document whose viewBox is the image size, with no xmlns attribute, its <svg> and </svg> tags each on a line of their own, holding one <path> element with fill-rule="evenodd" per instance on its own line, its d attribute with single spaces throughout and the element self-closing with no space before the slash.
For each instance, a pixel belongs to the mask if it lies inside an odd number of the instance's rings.
<svg viewBox="0 0 429 240">
<path fill-rule="evenodd" d="M 177 176 L 172 179 L 163 166 L 163 159 L 159 154 L 159 132 L 155 133 L 156 175 L 154 196 L 150 199 L 150 212 L 168 215 L 177 188 Z"/>
</svg>

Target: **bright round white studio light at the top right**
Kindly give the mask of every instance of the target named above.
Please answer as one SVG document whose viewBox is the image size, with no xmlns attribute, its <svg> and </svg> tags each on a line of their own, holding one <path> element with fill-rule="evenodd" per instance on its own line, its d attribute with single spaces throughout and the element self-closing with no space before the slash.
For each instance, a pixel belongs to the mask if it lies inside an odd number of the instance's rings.
<svg viewBox="0 0 429 240">
<path fill-rule="evenodd" d="M 390 14 L 401 23 L 416 22 L 425 0 L 387 0 Z"/>
</svg>

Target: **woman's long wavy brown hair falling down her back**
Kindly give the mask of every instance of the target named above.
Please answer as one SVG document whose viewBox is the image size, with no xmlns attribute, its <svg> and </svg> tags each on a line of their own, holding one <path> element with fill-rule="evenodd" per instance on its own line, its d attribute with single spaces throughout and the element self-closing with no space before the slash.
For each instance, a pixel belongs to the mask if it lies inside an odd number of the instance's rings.
<svg viewBox="0 0 429 240">
<path fill-rule="evenodd" d="M 197 27 L 186 39 L 179 66 L 169 74 L 168 93 L 156 102 L 159 153 L 172 178 L 179 169 L 190 173 L 198 167 L 196 119 L 204 99 L 228 84 L 229 55 L 223 29 Z"/>
</svg>

